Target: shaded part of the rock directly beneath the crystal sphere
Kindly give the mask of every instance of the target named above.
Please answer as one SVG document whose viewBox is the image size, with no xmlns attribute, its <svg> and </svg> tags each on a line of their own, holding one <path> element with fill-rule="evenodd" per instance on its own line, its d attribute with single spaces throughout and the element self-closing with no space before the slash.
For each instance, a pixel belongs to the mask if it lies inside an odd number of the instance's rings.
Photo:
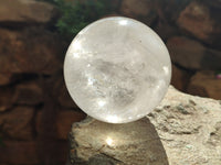
<svg viewBox="0 0 221 165">
<path fill-rule="evenodd" d="M 147 118 L 126 124 L 88 118 L 70 134 L 73 165 L 168 165 L 159 136 Z"/>
</svg>

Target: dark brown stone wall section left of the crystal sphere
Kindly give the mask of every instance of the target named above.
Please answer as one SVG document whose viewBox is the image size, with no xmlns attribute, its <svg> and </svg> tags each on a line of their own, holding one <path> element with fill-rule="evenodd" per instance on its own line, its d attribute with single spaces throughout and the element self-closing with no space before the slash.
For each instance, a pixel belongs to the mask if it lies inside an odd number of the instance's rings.
<svg viewBox="0 0 221 165">
<path fill-rule="evenodd" d="M 0 0 L 0 165 L 64 164 L 71 124 L 85 117 L 64 85 L 56 18 L 44 2 Z"/>
</svg>

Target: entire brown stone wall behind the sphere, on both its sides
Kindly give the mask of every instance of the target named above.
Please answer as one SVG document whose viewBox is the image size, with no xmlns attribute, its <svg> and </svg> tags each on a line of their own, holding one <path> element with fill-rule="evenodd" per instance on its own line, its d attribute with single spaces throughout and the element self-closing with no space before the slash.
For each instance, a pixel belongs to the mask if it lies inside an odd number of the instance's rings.
<svg viewBox="0 0 221 165">
<path fill-rule="evenodd" d="M 122 0 L 117 14 L 164 38 L 176 88 L 221 99 L 219 0 Z M 64 164 L 71 124 L 85 118 L 64 85 L 57 15 L 45 2 L 0 0 L 0 165 Z"/>
</svg>

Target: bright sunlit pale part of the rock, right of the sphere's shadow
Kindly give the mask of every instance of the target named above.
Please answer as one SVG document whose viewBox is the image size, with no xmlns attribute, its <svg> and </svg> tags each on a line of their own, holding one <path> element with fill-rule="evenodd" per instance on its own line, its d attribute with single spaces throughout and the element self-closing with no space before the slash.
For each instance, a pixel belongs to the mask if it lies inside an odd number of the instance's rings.
<svg viewBox="0 0 221 165">
<path fill-rule="evenodd" d="M 169 88 L 148 118 L 170 165 L 221 164 L 221 101 Z"/>
</svg>

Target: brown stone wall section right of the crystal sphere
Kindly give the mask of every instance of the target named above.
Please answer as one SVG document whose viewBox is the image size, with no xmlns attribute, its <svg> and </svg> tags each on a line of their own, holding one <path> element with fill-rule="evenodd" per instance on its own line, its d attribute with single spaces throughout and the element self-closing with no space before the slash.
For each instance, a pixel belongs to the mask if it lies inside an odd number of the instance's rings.
<svg viewBox="0 0 221 165">
<path fill-rule="evenodd" d="M 221 2 L 219 0 L 123 0 L 122 13 L 151 26 L 172 59 L 179 90 L 221 99 Z"/>
</svg>

